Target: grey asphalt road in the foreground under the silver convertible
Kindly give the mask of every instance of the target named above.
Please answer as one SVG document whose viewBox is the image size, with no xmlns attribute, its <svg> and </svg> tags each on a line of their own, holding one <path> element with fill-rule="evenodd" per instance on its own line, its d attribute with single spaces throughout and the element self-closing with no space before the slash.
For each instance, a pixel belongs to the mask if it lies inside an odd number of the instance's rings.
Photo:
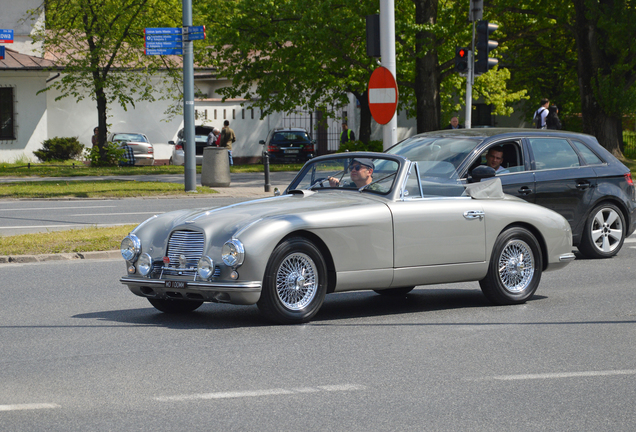
<svg viewBox="0 0 636 432">
<path fill-rule="evenodd" d="M 629 240 L 524 305 L 476 283 L 333 294 L 298 326 L 159 313 L 122 260 L 0 265 L 0 430 L 633 431 Z"/>
</svg>

